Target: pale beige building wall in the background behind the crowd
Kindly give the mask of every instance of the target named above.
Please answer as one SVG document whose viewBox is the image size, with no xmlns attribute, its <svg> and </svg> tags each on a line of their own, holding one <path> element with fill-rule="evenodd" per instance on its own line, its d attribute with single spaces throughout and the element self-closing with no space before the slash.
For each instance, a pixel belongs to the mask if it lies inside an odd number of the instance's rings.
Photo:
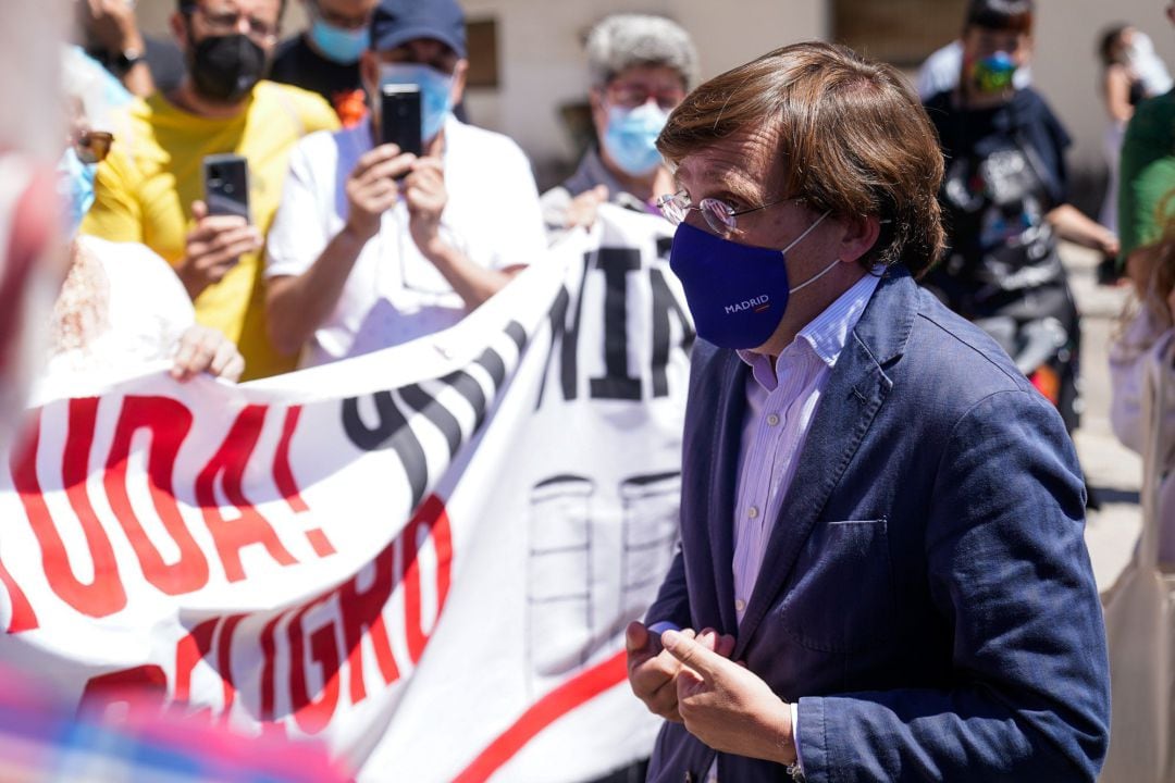
<svg viewBox="0 0 1175 783">
<path fill-rule="evenodd" d="M 6 0 L 8 1 L 8 0 Z M 878 0 L 884 1 L 884 0 Z M 931 0 L 933 1 L 933 0 Z M 572 155 L 558 107 L 586 94 L 583 36 L 609 13 L 638 11 L 671 16 L 693 35 L 703 77 L 778 46 L 827 38 L 827 0 L 462 0 L 471 19 L 498 25 L 501 89 L 471 90 L 470 116 L 515 137 L 539 170 Z M 1038 0 L 1036 86 L 1074 137 L 1075 171 L 1103 168 L 1104 112 L 1094 47 L 1115 21 L 1133 23 L 1154 39 L 1175 67 L 1175 29 L 1166 0 Z M 139 0 L 145 29 L 167 35 L 175 0 Z M 301 0 L 289 0 L 286 32 L 302 25 Z M 916 20 L 911 20 L 916 23 Z"/>
</svg>

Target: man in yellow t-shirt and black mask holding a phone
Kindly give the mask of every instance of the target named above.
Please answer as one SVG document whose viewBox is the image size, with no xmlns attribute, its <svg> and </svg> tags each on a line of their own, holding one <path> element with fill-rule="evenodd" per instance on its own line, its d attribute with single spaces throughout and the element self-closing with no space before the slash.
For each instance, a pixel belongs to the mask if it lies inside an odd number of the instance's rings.
<svg viewBox="0 0 1175 783">
<path fill-rule="evenodd" d="M 141 242 L 183 282 L 196 320 L 224 332 L 246 359 L 244 378 L 293 369 L 264 324 L 262 237 L 281 201 L 294 143 L 338 120 L 318 95 L 262 80 L 277 42 L 284 0 L 180 0 L 172 29 L 188 75 L 169 94 L 129 108 L 115 149 L 99 167 L 94 205 L 81 231 Z M 243 217 L 209 216 L 203 157 L 249 162 Z"/>
</svg>

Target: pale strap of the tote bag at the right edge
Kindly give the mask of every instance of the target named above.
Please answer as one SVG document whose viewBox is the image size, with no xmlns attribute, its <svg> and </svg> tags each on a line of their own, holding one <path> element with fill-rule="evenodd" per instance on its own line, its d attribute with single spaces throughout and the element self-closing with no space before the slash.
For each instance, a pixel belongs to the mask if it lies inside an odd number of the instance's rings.
<svg viewBox="0 0 1175 783">
<path fill-rule="evenodd" d="M 1170 376 L 1175 373 L 1175 339 L 1170 333 L 1160 338 L 1155 350 L 1143 357 L 1142 376 L 1142 538 L 1139 560 L 1144 568 L 1159 568 L 1159 490 L 1162 485 L 1164 443 L 1163 410 L 1168 401 Z"/>
</svg>

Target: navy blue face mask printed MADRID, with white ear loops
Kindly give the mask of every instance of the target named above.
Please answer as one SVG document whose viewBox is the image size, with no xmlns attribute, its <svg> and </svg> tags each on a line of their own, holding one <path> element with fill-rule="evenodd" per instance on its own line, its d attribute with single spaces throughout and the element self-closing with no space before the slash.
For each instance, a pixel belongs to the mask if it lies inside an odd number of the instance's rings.
<svg viewBox="0 0 1175 783">
<path fill-rule="evenodd" d="M 759 347 L 771 339 L 788 297 L 840 263 L 833 261 L 804 283 L 788 286 L 787 251 L 827 216 L 821 215 L 783 250 L 739 244 L 687 223 L 678 225 L 669 263 L 685 289 L 698 337 L 730 349 Z"/>
</svg>

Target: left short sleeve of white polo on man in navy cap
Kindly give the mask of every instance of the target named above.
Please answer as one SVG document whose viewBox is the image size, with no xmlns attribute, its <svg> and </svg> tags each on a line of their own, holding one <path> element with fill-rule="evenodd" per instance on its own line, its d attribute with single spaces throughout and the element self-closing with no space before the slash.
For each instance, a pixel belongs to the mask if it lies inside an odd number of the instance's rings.
<svg viewBox="0 0 1175 783">
<path fill-rule="evenodd" d="M 334 210 L 336 150 L 330 134 L 321 131 L 300 141 L 290 153 L 282 201 L 266 238 L 267 279 L 303 274 L 330 242 L 328 223 Z M 322 177 L 321 183 L 316 174 Z"/>
</svg>

